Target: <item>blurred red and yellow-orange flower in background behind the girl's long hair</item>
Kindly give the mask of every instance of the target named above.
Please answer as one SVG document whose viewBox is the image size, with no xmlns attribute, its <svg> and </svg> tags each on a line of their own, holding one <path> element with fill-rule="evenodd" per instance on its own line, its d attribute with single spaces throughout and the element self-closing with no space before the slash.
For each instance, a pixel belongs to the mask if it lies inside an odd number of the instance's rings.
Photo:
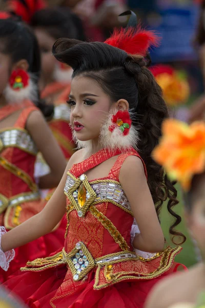
<svg viewBox="0 0 205 308">
<path fill-rule="evenodd" d="M 158 65 L 152 67 L 151 72 L 163 92 L 163 99 L 169 106 L 186 103 L 190 95 L 189 83 L 180 72 L 169 65 Z"/>
</svg>

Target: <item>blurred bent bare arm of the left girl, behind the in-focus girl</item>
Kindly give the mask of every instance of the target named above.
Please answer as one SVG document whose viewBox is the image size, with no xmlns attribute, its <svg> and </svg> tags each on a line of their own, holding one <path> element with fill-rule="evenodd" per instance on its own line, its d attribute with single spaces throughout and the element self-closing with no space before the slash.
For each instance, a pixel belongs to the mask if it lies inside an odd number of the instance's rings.
<svg viewBox="0 0 205 308">
<path fill-rule="evenodd" d="M 42 112 L 36 110 L 30 114 L 26 129 L 51 170 L 48 175 L 40 177 L 38 183 L 39 188 L 56 187 L 66 168 L 66 159 L 53 137 L 52 131 L 44 119 Z"/>
</svg>

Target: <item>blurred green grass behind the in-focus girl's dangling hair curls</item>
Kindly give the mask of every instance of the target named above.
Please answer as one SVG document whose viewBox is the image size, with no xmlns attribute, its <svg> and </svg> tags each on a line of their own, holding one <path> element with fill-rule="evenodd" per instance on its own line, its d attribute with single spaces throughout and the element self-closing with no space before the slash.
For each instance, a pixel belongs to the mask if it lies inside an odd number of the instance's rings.
<svg viewBox="0 0 205 308">
<path fill-rule="evenodd" d="M 196 259 L 196 253 L 195 253 L 195 247 L 194 244 L 189 236 L 187 227 L 186 227 L 186 222 L 184 219 L 184 206 L 183 206 L 183 198 L 182 198 L 182 194 L 181 194 L 181 190 L 180 187 L 177 186 L 176 187 L 178 190 L 178 197 L 177 199 L 179 200 L 179 204 L 177 204 L 175 206 L 174 211 L 179 214 L 182 218 L 181 223 L 177 226 L 177 230 L 179 230 L 180 232 L 182 232 L 184 235 L 186 235 L 187 237 L 187 241 L 182 244 L 182 252 L 176 256 L 175 261 L 176 262 L 180 262 L 182 264 L 185 264 L 187 267 L 193 265 L 196 263 L 197 259 Z M 165 202 L 162 206 L 162 210 L 161 210 L 161 214 L 160 214 L 160 220 L 161 220 L 161 226 L 163 229 L 163 233 L 166 237 L 166 240 L 169 244 L 171 244 L 172 246 L 174 246 L 171 242 L 170 239 L 170 234 L 169 234 L 169 227 L 172 224 L 172 216 L 168 213 L 167 210 L 167 203 Z"/>
</svg>

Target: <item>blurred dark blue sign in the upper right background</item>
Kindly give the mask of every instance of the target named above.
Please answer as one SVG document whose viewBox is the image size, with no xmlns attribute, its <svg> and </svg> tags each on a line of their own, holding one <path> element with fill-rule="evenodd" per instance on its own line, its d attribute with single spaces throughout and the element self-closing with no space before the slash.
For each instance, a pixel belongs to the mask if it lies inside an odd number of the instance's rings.
<svg viewBox="0 0 205 308">
<path fill-rule="evenodd" d="M 196 31 L 198 7 L 169 8 L 159 12 L 161 23 L 155 30 L 161 44 L 150 52 L 153 62 L 172 62 L 196 59 L 193 39 Z"/>
</svg>

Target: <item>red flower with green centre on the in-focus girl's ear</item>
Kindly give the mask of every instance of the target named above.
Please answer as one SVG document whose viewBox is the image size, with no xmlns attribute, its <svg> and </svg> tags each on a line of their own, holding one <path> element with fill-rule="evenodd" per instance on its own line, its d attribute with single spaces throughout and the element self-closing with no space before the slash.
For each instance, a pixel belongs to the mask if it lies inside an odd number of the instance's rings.
<svg viewBox="0 0 205 308">
<path fill-rule="evenodd" d="M 130 119 L 130 114 L 128 110 L 117 111 L 117 113 L 114 114 L 112 117 L 112 123 L 113 124 L 109 126 L 109 130 L 111 132 L 113 132 L 113 130 L 118 127 L 119 130 L 122 132 L 123 136 L 127 136 L 132 124 L 132 120 Z"/>
</svg>

